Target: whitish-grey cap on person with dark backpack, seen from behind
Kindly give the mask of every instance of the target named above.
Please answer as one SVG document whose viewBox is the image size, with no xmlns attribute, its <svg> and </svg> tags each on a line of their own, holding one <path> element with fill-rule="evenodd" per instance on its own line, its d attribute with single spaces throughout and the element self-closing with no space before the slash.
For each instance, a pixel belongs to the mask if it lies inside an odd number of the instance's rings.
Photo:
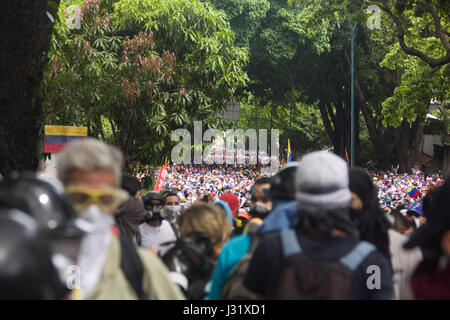
<svg viewBox="0 0 450 320">
<path fill-rule="evenodd" d="M 300 208 L 328 210 L 349 207 L 348 165 L 331 152 L 308 153 L 298 166 L 295 188 Z"/>
</svg>

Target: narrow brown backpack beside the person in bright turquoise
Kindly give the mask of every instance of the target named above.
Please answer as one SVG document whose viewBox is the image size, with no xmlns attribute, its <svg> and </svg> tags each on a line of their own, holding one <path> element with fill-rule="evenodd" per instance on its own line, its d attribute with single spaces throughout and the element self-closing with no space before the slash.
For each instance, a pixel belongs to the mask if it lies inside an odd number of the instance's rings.
<svg viewBox="0 0 450 320">
<path fill-rule="evenodd" d="M 231 270 L 220 295 L 221 300 L 255 300 L 256 295 L 244 287 L 244 277 L 250 265 L 253 252 L 259 243 L 259 236 L 256 233 L 249 233 L 251 236 L 250 250 Z"/>
</svg>

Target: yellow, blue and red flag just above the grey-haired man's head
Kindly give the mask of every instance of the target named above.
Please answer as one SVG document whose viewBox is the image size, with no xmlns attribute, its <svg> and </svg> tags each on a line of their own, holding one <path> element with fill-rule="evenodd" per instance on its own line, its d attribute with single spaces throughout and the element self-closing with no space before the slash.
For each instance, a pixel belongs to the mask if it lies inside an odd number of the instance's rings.
<svg viewBox="0 0 450 320">
<path fill-rule="evenodd" d="M 44 152 L 59 153 L 74 139 L 87 136 L 87 127 L 45 126 Z"/>
</svg>

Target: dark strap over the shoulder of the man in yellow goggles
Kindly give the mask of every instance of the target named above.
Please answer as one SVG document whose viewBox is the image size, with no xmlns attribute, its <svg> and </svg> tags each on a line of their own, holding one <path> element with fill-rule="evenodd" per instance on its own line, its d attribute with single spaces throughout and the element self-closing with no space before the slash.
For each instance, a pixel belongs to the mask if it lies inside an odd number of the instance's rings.
<svg viewBox="0 0 450 320">
<path fill-rule="evenodd" d="M 124 235 L 119 236 L 120 240 L 120 266 L 130 285 L 136 292 L 138 299 L 143 300 L 144 290 L 142 280 L 144 277 L 144 265 L 134 243 Z"/>
</svg>

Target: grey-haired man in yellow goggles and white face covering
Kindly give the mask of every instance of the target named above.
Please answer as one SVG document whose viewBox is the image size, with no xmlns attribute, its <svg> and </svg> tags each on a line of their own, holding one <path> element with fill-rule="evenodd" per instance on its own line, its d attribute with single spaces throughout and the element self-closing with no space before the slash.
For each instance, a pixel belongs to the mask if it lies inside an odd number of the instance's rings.
<svg viewBox="0 0 450 320">
<path fill-rule="evenodd" d="M 111 226 L 129 195 L 121 190 L 123 156 L 97 139 L 68 143 L 58 157 L 58 178 L 88 232 L 77 259 L 80 295 L 89 300 L 184 299 L 163 262 Z"/>
</svg>

